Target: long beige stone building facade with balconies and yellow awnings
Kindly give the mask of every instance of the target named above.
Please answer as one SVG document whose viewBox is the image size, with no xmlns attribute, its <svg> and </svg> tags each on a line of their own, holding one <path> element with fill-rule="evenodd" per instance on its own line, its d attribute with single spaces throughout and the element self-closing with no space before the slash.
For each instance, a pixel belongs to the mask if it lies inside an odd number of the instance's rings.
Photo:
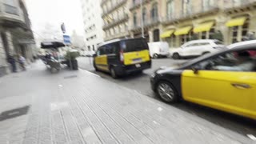
<svg viewBox="0 0 256 144">
<path fill-rule="evenodd" d="M 103 0 L 101 6 L 105 40 L 140 38 L 142 23 L 148 42 L 168 42 L 170 48 L 207 38 L 229 45 L 256 32 L 256 0 Z M 115 16 L 120 11 L 127 16 Z M 126 29 L 118 30 L 122 23 Z"/>
</svg>

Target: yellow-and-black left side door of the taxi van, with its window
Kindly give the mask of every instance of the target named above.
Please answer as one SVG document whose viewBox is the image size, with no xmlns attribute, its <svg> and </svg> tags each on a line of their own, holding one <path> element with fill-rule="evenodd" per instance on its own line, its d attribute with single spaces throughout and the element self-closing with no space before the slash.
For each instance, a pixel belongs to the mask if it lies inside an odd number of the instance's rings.
<svg viewBox="0 0 256 144">
<path fill-rule="evenodd" d="M 106 50 L 104 46 L 98 48 L 97 56 L 95 57 L 95 65 L 99 70 L 109 70 L 107 64 Z"/>
</svg>

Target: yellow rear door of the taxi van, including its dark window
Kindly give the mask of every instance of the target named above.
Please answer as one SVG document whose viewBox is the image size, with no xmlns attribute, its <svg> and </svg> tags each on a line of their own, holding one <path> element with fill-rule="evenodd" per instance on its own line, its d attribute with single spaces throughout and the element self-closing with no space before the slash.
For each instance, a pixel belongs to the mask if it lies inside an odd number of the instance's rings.
<svg viewBox="0 0 256 144">
<path fill-rule="evenodd" d="M 123 63 L 133 65 L 150 61 L 150 51 L 146 39 L 130 39 L 121 42 Z"/>
</svg>

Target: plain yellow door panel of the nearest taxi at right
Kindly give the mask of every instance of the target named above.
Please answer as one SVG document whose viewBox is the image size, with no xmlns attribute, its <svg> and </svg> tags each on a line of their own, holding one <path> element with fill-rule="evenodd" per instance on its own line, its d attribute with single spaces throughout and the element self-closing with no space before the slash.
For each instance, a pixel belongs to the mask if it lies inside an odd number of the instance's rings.
<svg viewBox="0 0 256 144">
<path fill-rule="evenodd" d="M 185 70 L 182 95 L 190 102 L 256 119 L 256 72 Z"/>
</svg>

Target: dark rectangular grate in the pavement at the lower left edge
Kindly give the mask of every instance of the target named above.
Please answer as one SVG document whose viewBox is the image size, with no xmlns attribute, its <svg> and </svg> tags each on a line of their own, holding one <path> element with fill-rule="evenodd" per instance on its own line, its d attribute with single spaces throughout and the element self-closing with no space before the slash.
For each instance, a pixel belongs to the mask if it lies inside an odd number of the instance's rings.
<svg viewBox="0 0 256 144">
<path fill-rule="evenodd" d="M 6 119 L 16 118 L 16 117 L 25 115 L 27 114 L 29 109 L 30 109 L 30 106 L 23 106 L 14 110 L 4 111 L 0 114 L 0 122 L 5 121 Z"/>
</svg>

